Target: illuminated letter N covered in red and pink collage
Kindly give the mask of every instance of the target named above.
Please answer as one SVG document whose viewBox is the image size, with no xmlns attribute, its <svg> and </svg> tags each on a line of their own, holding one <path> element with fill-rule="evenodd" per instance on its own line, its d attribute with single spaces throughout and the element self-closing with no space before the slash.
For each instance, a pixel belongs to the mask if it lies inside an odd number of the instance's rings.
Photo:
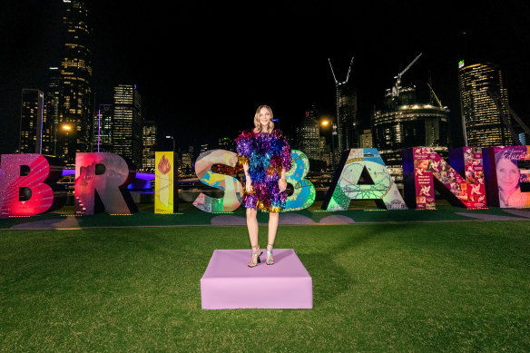
<svg viewBox="0 0 530 353">
<path fill-rule="evenodd" d="M 417 210 L 436 210 L 435 187 L 454 206 L 486 207 L 486 187 L 482 150 L 463 147 L 451 151 L 450 162 L 464 179 L 432 147 L 403 150 L 405 200 Z"/>
</svg>

